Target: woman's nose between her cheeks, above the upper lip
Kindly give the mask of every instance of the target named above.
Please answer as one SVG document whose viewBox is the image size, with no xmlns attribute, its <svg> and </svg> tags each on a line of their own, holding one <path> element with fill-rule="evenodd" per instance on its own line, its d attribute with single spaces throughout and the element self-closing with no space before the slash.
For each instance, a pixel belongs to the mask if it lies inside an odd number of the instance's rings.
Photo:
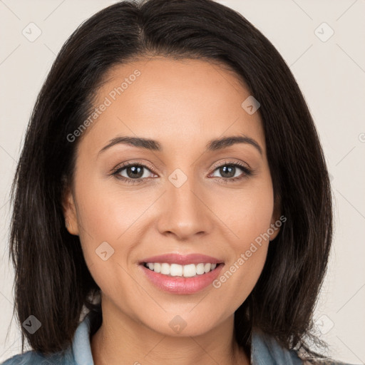
<svg viewBox="0 0 365 365">
<path fill-rule="evenodd" d="M 187 178 L 180 187 L 168 182 L 167 191 L 159 202 L 158 231 L 181 241 L 208 234 L 213 222 L 207 200 L 192 178 Z"/>
</svg>

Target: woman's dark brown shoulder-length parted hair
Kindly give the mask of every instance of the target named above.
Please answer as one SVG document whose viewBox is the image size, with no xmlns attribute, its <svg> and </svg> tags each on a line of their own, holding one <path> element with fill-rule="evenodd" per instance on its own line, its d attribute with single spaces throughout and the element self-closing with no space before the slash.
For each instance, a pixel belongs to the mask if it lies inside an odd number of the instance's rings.
<svg viewBox="0 0 365 365">
<path fill-rule="evenodd" d="M 71 143 L 67 136 L 95 108 L 111 67 L 156 56 L 220 63 L 259 101 L 274 198 L 286 220 L 269 244 L 255 288 L 235 312 L 235 339 L 250 349 L 256 328 L 286 349 L 320 356 L 308 344 L 319 340 L 312 318 L 332 240 L 324 153 L 282 56 L 244 16 L 212 0 L 120 1 L 78 26 L 56 56 L 11 186 L 14 314 L 20 324 L 30 315 L 41 322 L 34 334 L 21 327 L 22 351 L 25 339 L 44 354 L 63 351 L 85 310 L 96 318 L 92 333 L 101 324 L 101 305 L 91 299 L 100 288 L 63 216 L 80 140 Z"/>
</svg>

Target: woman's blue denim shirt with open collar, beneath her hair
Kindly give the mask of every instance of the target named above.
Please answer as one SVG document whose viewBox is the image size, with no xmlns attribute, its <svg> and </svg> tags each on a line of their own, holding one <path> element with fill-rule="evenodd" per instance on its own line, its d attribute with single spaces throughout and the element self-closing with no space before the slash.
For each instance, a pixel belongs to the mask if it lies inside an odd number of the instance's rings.
<svg viewBox="0 0 365 365">
<path fill-rule="evenodd" d="M 44 357 L 36 351 L 26 351 L 11 357 L 1 365 L 93 365 L 90 324 L 90 318 L 86 316 L 76 329 L 72 345 L 63 353 Z M 305 365 L 305 361 L 302 361 L 295 351 L 283 349 L 272 337 L 257 331 L 252 332 L 250 362 L 252 365 Z M 138 359 L 134 364 L 139 364 Z M 143 361 L 140 364 L 143 365 Z M 326 364 L 346 365 L 338 362 Z"/>
</svg>

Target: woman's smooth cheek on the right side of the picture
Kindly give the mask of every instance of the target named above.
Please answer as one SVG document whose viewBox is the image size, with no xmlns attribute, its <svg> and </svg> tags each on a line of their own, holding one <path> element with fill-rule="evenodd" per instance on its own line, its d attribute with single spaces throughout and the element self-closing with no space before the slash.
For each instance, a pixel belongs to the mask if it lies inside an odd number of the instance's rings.
<svg viewBox="0 0 365 365">
<path fill-rule="evenodd" d="M 252 292 L 266 261 L 274 208 L 271 180 L 262 180 L 250 190 L 242 189 L 240 194 L 234 191 L 230 196 L 225 192 L 221 198 L 225 204 L 220 205 L 219 214 L 232 232 L 232 258 L 213 286 L 222 289 L 224 300 L 235 307 Z"/>
</svg>

